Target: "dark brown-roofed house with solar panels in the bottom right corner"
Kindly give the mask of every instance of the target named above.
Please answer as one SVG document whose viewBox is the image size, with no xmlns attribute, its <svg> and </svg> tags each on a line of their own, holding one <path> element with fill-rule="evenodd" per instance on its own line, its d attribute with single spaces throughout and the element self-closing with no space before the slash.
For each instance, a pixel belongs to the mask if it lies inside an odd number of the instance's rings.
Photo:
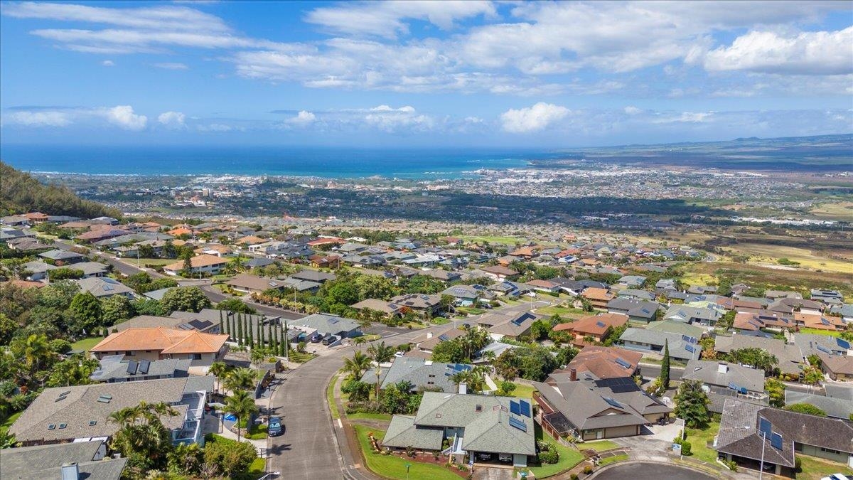
<svg viewBox="0 0 853 480">
<path fill-rule="evenodd" d="M 853 467 L 853 424 L 728 398 L 714 448 L 725 460 L 775 475 L 794 476 L 797 455 Z"/>
</svg>

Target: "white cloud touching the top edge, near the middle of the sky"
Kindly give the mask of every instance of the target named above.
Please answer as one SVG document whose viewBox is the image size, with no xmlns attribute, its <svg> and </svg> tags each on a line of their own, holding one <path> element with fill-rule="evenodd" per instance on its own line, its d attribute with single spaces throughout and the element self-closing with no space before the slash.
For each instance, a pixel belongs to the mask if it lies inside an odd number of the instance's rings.
<svg viewBox="0 0 853 480">
<path fill-rule="evenodd" d="M 305 21 L 346 34 L 367 34 L 394 38 L 409 32 L 405 20 L 426 20 L 444 30 L 456 20 L 477 15 L 496 15 L 495 6 L 484 0 L 444 0 L 432 2 L 344 2 L 311 10 Z"/>
</svg>

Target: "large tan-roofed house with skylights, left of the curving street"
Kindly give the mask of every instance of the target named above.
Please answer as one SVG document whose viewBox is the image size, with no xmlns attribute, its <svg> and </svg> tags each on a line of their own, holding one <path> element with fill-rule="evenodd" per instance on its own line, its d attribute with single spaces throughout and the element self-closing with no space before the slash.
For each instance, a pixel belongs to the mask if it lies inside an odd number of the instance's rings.
<svg viewBox="0 0 853 480">
<path fill-rule="evenodd" d="M 142 382 L 95 383 L 44 389 L 9 428 L 25 446 L 103 439 L 113 436 L 120 425 L 109 420 L 113 412 L 164 402 L 177 416 L 164 417 L 172 442 L 204 444 L 207 394 L 213 377 L 166 378 Z"/>
</svg>

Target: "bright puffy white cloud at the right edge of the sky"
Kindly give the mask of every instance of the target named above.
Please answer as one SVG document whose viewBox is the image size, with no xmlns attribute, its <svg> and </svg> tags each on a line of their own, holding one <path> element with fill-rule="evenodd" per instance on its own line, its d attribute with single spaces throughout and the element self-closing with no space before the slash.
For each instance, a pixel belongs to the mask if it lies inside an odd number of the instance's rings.
<svg viewBox="0 0 853 480">
<path fill-rule="evenodd" d="M 853 73 L 853 26 L 838 32 L 749 32 L 729 47 L 711 50 L 705 68 L 758 73 L 837 75 Z"/>
</svg>

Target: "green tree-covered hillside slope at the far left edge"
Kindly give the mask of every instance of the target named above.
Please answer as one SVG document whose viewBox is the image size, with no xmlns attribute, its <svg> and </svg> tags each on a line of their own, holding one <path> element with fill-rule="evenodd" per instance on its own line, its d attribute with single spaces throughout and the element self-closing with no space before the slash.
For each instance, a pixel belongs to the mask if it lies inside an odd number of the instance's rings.
<svg viewBox="0 0 853 480">
<path fill-rule="evenodd" d="M 37 211 L 81 218 L 121 216 L 121 212 L 114 208 L 83 200 L 64 186 L 42 184 L 30 174 L 20 172 L 0 161 L 0 214 L 26 214 Z"/>
</svg>

